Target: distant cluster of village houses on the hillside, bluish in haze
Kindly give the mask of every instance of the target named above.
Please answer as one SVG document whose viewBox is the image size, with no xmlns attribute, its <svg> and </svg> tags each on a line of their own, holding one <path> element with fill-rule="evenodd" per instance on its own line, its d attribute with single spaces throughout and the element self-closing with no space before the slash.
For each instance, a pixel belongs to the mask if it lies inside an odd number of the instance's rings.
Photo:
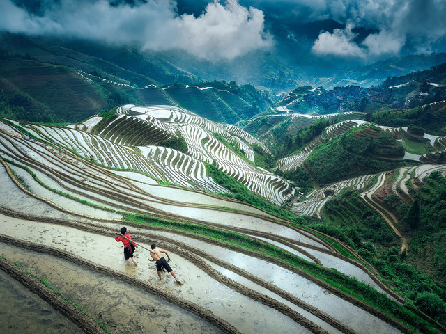
<svg viewBox="0 0 446 334">
<path fill-rule="evenodd" d="M 399 101 L 390 101 L 391 94 L 388 90 L 380 88 L 360 87 L 355 85 L 337 86 L 332 90 L 325 90 L 321 94 L 309 92 L 303 97 L 303 102 L 313 104 L 324 109 L 345 110 L 348 103 L 360 102 L 362 97 L 367 97 L 369 101 L 391 102 L 393 105 L 399 104 Z"/>
</svg>

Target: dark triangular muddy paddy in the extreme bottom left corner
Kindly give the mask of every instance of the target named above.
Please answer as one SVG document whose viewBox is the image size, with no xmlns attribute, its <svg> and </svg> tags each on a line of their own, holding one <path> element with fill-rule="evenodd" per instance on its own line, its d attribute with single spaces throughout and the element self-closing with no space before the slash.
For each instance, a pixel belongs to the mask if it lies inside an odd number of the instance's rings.
<svg viewBox="0 0 446 334">
<path fill-rule="evenodd" d="M 0 244 L 0 253 L 3 253 Z M 82 333 L 52 306 L 0 270 L 1 333 Z"/>
</svg>

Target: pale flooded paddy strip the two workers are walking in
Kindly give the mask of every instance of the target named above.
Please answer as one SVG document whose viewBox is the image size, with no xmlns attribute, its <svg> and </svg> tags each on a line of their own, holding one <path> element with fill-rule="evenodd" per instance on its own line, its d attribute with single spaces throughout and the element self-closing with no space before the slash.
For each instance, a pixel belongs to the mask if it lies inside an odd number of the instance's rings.
<svg viewBox="0 0 446 334">
<path fill-rule="evenodd" d="M 116 226 L 118 230 L 119 226 Z M 102 266 L 128 273 L 139 280 L 154 284 L 160 289 L 176 294 L 211 310 L 215 315 L 229 321 L 243 333 L 306 333 L 306 329 L 289 317 L 259 302 L 249 299 L 214 278 L 193 264 L 193 257 L 186 260 L 169 252 L 177 277 L 184 285 L 176 285 L 169 273 L 163 273 L 163 280 L 157 278 L 155 264 L 148 262 L 148 252 L 137 248 L 135 257 L 138 267 L 123 260 L 123 247 L 112 236 L 79 232 L 47 223 L 23 221 L 0 216 L 0 230 L 11 237 L 66 250 Z M 129 231 L 132 234 L 132 231 Z M 140 244 L 146 248 L 149 245 Z M 161 245 L 162 247 L 162 245 Z M 145 255 L 144 255 L 145 253 Z"/>
</svg>

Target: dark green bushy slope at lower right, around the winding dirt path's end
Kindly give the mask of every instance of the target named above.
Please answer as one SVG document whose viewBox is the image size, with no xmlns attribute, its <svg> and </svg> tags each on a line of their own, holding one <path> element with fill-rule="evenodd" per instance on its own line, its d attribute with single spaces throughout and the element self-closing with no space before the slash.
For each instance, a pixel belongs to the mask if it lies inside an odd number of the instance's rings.
<svg viewBox="0 0 446 334">
<path fill-rule="evenodd" d="M 446 309 L 446 262 L 443 256 L 446 247 L 446 191 L 440 190 L 446 189 L 446 179 L 439 173 L 433 173 L 428 179 L 427 184 L 420 189 L 422 195 L 417 196 L 410 209 L 407 205 L 402 208 L 404 205 L 395 204 L 399 203 L 397 198 L 386 200 L 393 203 L 397 214 L 406 216 L 407 225 L 414 226 L 407 254 L 399 255 L 399 241 L 392 230 L 381 216 L 359 198 L 360 191 L 353 189 L 345 189 L 329 200 L 323 209 L 324 220 L 310 221 L 308 226 L 351 246 L 378 270 L 380 279 L 408 299 L 410 305 L 415 305 L 445 325 L 443 314 L 435 314 L 426 304 L 432 301 L 438 310 Z M 416 204 L 418 200 L 420 205 Z M 420 223 L 412 223 L 410 219 L 416 221 L 417 212 Z M 431 227 L 426 228 L 426 224 Z M 431 233 L 432 230 L 436 232 Z"/>
</svg>

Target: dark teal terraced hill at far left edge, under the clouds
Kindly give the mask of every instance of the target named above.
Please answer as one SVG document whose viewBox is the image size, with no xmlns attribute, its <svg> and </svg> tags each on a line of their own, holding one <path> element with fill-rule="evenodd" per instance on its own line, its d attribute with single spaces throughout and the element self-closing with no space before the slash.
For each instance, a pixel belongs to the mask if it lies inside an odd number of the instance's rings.
<svg viewBox="0 0 446 334">
<path fill-rule="evenodd" d="M 91 81 L 66 66 L 41 63 L 32 59 L 3 57 L 0 67 L 2 102 L 10 107 L 26 107 L 22 120 L 82 120 L 108 109 L 107 95 Z M 23 103 L 17 96 L 29 97 Z M 40 108 L 39 108 L 40 106 Z M 35 109 L 34 109 L 34 108 Z M 33 116 L 36 110 L 36 116 Z M 3 109 L 4 116 L 14 116 Z"/>
</svg>

